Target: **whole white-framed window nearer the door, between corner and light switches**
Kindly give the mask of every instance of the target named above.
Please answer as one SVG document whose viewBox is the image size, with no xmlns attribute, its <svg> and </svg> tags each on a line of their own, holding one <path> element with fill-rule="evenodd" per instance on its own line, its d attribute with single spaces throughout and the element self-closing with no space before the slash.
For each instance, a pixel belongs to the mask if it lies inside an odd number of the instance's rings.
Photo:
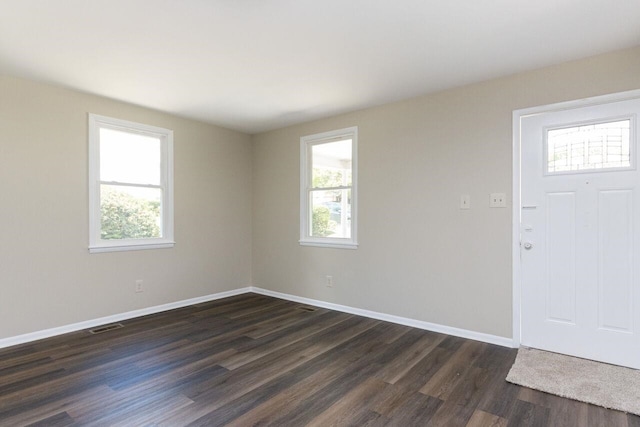
<svg viewBox="0 0 640 427">
<path fill-rule="evenodd" d="M 357 248 L 358 128 L 300 139 L 300 244 Z"/>
</svg>

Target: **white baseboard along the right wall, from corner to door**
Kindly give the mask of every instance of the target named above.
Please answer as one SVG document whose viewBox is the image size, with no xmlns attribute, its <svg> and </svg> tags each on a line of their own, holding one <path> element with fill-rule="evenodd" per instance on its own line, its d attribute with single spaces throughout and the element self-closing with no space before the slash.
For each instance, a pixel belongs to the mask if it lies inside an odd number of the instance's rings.
<svg viewBox="0 0 640 427">
<path fill-rule="evenodd" d="M 441 334 L 453 335 L 461 338 L 468 338 L 476 341 L 482 341 L 489 344 L 496 344 L 502 347 L 514 347 L 513 339 L 500 337 L 497 335 L 484 334 L 482 332 L 469 331 L 467 329 L 453 328 L 451 326 L 439 325 L 437 323 L 423 322 L 422 320 L 409 319 L 407 317 L 394 316 L 391 314 L 378 313 L 376 311 L 363 310 L 361 308 L 349 307 L 346 305 L 333 304 L 330 302 L 303 298 L 296 295 L 283 294 L 280 292 L 270 291 L 255 286 L 251 287 L 251 292 L 261 295 L 267 295 L 274 298 L 285 299 L 288 301 L 299 302 L 301 304 L 313 305 L 316 307 L 328 308 L 330 310 L 342 311 L 344 313 L 356 314 L 358 316 L 369 317 L 371 319 L 384 320 L 385 322 L 397 323 L 400 325 L 410 326 L 412 328 L 424 329 L 426 331 L 439 332 Z"/>
</svg>

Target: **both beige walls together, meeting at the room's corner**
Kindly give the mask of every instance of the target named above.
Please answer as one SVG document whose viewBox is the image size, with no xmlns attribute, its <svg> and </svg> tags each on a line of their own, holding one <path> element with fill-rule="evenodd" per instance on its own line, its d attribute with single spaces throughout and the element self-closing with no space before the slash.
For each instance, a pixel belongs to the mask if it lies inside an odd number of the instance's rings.
<svg viewBox="0 0 640 427">
<path fill-rule="evenodd" d="M 0 76 L 0 339 L 250 284 L 510 337 L 512 111 L 638 88 L 640 48 L 250 138 Z M 88 112 L 174 130 L 175 248 L 88 253 Z M 360 247 L 301 247 L 299 138 L 354 125 Z"/>
</svg>

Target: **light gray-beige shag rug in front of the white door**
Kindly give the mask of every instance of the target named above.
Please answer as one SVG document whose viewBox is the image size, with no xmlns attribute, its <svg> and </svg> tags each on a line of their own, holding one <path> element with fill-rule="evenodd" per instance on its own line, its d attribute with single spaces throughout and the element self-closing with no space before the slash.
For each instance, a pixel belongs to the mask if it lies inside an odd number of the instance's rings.
<svg viewBox="0 0 640 427">
<path fill-rule="evenodd" d="M 640 370 L 521 347 L 507 381 L 640 415 Z"/>
</svg>

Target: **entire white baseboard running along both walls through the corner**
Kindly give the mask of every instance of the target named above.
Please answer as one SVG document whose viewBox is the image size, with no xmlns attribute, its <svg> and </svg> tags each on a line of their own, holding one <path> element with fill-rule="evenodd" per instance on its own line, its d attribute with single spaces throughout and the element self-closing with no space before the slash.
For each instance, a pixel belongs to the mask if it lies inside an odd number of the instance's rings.
<svg viewBox="0 0 640 427">
<path fill-rule="evenodd" d="M 378 313 L 376 311 L 363 310 L 361 308 L 349 307 L 346 305 L 333 304 L 330 302 L 314 300 L 310 298 L 299 297 L 296 295 L 284 294 L 281 292 L 270 291 L 255 286 L 234 289 L 226 292 L 205 295 L 202 297 L 191 298 L 172 302 L 169 304 L 157 305 L 155 307 L 143 308 L 140 310 L 129 311 L 126 313 L 115 314 L 113 316 L 100 317 L 98 319 L 87 320 L 85 322 L 73 323 L 71 325 L 60 326 L 57 328 L 45 329 L 43 331 L 32 332 L 15 337 L 0 339 L 0 349 L 11 347 L 18 344 L 25 344 L 32 341 L 50 338 L 57 335 L 76 332 L 83 329 L 95 328 L 96 326 L 106 325 L 109 323 L 121 322 L 123 320 L 133 319 L 135 317 L 147 316 L 149 314 L 160 313 L 163 311 L 173 310 L 176 308 L 187 307 L 189 305 L 200 304 L 203 302 L 214 301 L 217 299 L 227 298 L 235 295 L 254 292 L 260 295 L 271 296 L 288 301 L 299 302 L 301 304 L 313 305 L 316 307 L 328 308 L 330 310 L 341 311 L 343 313 L 356 314 L 358 316 L 369 317 L 371 319 L 384 320 L 385 322 L 397 323 L 400 325 L 410 326 L 412 328 L 424 329 L 427 331 L 439 332 L 442 334 L 453 335 L 461 338 L 468 338 L 476 341 L 482 341 L 489 344 L 496 344 L 503 347 L 517 347 L 513 339 L 500 337 L 497 335 L 484 334 L 481 332 L 469 331 L 467 329 L 453 328 L 451 326 L 439 325 L 437 323 L 423 322 L 421 320 L 409 319 L 406 317 L 394 316 L 391 314 Z"/>
</svg>

